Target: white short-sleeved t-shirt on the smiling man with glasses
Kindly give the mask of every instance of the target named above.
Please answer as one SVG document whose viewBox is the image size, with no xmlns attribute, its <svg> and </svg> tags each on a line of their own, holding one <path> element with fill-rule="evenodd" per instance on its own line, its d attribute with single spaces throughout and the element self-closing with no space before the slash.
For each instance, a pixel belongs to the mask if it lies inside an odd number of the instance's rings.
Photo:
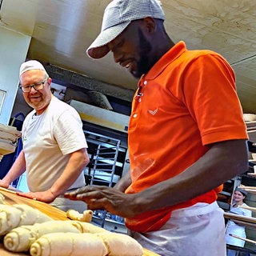
<svg viewBox="0 0 256 256">
<path fill-rule="evenodd" d="M 31 111 L 22 126 L 27 185 L 31 192 L 50 189 L 60 177 L 70 153 L 87 148 L 82 121 L 74 108 L 58 98 L 40 115 Z M 85 186 L 84 174 L 70 189 Z"/>
</svg>

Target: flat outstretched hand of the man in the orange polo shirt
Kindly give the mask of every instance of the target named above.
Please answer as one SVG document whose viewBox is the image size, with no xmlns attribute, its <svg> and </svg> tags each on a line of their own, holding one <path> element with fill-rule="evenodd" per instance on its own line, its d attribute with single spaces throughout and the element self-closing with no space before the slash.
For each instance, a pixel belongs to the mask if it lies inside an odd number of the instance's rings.
<svg viewBox="0 0 256 256">
<path fill-rule="evenodd" d="M 136 195 L 124 194 L 108 186 L 85 186 L 64 194 L 64 197 L 82 200 L 87 203 L 90 210 L 107 210 L 111 214 L 131 218 L 142 212 L 141 207 L 136 206 Z"/>
</svg>

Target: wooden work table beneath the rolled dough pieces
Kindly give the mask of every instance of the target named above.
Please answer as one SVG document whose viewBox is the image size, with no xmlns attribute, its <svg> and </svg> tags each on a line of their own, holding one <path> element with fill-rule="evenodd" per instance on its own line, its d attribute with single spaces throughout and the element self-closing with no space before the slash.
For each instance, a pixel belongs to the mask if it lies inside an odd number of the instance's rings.
<svg viewBox="0 0 256 256">
<path fill-rule="evenodd" d="M 14 204 L 26 204 L 27 206 L 34 207 L 38 210 L 40 210 L 42 213 L 47 214 L 50 216 L 50 218 L 53 218 L 55 220 L 68 220 L 69 218 L 66 218 L 66 212 L 62 210 L 58 210 L 57 208 L 50 206 L 44 202 L 38 202 L 32 199 L 23 198 L 21 196 L 18 196 L 17 194 L 10 193 L 7 191 L 0 190 L 0 193 L 4 195 L 5 200 L 4 203 L 7 205 L 14 205 Z M 2 242 L 0 242 L 0 256 L 27 256 L 29 253 L 13 253 L 9 252 L 4 249 Z M 90 256 L 90 255 L 88 255 Z M 158 254 L 154 254 L 150 250 L 143 249 L 143 256 L 160 256 Z"/>
</svg>

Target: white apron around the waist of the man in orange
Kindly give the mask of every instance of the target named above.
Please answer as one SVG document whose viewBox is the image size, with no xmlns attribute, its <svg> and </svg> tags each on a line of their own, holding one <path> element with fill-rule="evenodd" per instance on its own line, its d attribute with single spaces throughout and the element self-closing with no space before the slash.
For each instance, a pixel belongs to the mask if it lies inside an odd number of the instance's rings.
<svg viewBox="0 0 256 256">
<path fill-rule="evenodd" d="M 160 230 L 131 235 L 162 256 L 226 256 L 225 222 L 217 202 L 174 210 Z"/>
</svg>

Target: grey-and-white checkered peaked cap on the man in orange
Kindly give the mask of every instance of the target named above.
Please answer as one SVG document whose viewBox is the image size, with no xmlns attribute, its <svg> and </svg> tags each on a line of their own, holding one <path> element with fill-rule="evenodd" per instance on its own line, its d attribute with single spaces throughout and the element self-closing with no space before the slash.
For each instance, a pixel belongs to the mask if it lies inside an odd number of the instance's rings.
<svg viewBox="0 0 256 256">
<path fill-rule="evenodd" d="M 102 58 L 110 51 L 106 46 L 130 24 L 140 18 L 159 18 L 165 20 L 162 4 L 158 0 L 114 0 L 106 6 L 102 30 L 86 50 L 90 58 Z"/>
</svg>

